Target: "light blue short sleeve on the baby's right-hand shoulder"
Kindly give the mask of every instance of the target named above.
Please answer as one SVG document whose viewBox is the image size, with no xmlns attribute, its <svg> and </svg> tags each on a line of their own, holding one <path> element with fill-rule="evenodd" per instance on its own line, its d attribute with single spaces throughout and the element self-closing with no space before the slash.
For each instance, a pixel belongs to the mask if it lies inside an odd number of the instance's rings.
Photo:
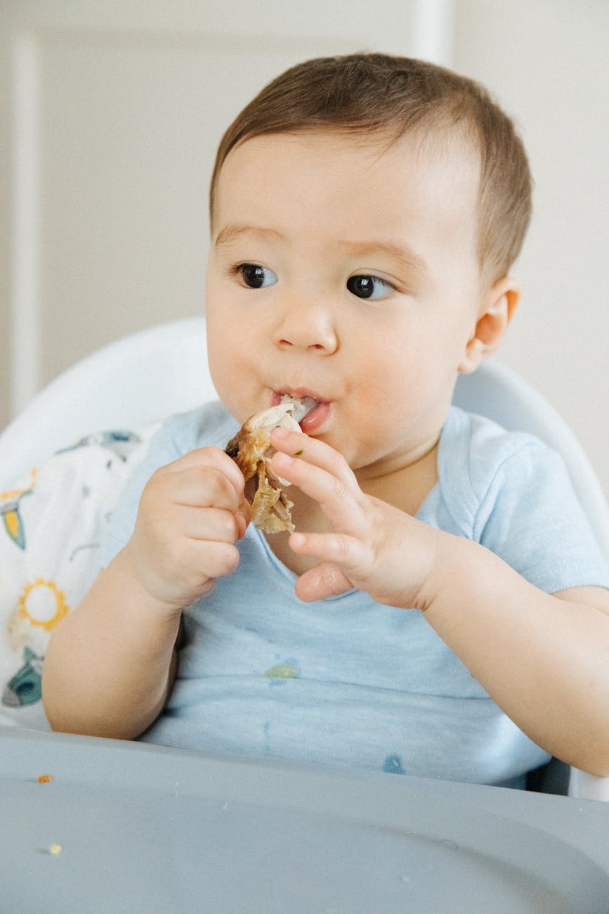
<svg viewBox="0 0 609 914">
<path fill-rule="evenodd" d="M 527 436 L 479 501 L 475 537 L 536 587 L 609 588 L 609 563 L 558 452 Z"/>
</svg>

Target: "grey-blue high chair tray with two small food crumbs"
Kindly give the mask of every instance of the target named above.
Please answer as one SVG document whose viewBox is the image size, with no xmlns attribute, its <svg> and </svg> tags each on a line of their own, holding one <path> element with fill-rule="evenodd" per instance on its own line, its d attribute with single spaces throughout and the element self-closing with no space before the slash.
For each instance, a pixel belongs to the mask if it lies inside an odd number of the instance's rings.
<svg viewBox="0 0 609 914">
<path fill-rule="evenodd" d="M 1 728 L 0 811 L 2 914 L 609 910 L 600 802 Z"/>
</svg>

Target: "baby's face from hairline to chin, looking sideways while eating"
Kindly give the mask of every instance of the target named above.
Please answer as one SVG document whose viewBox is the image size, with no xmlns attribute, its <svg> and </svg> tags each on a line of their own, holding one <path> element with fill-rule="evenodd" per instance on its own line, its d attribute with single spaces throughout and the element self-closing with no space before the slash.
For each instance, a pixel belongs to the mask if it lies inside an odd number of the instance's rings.
<svg viewBox="0 0 609 914">
<path fill-rule="evenodd" d="M 206 316 L 236 420 L 310 398 L 303 429 L 363 474 L 428 450 L 481 300 L 478 175 L 437 137 L 276 134 L 227 156 Z"/>
</svg>

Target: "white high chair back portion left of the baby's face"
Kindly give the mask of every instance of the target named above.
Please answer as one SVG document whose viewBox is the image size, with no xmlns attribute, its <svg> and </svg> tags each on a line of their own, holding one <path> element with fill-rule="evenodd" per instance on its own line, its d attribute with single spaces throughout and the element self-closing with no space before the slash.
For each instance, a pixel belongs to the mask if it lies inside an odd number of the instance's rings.
<svg viewBox="0 0 609 914">
<path fill-rule="evenodd" d="M 215 399 L 201 317 L 158 324 L 81 359 L 0 435 L 0 478 L 16 479 L 94 431 L 142 428 Z"/>
</svg>

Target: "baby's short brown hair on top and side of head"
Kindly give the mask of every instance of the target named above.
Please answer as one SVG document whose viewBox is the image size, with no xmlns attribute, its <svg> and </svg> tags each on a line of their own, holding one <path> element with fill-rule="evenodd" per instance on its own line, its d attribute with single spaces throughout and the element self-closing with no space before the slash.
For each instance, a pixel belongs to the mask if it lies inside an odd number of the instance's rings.
<svg viewBox="0 0 609 914">
<path fill-rule="evenodd" d="M 348 54 L 314 58 L 268 83 L 228 127 L 215 157 L 210 188 L 227 154 L 268 133 L 347 131 L 395 142 L 409 131 L 458 126 L 480 154 L 478 259 L 495 281 L 516 260 L 530 221 L 532 181 L 513 122 L 483 86 L 449 69 L 412 58 Z"/>
</svg>

